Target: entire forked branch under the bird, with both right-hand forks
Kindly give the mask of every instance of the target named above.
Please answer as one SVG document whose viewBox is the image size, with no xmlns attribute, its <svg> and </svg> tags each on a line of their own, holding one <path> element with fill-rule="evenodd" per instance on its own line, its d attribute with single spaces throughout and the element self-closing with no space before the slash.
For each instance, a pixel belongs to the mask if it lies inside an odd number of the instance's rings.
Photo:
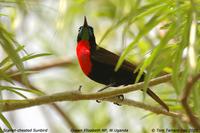
<svg viewBox="0 0 200 133">
<path fill-rule="evenodd" d="M 165 75 L 165 76 L 153 79 L 150 81 L 150 85 L 152 86 L 152 85 L 160 84 L 162 82 L 166 82 L 170 79 L 170 77 L 171 77 L 170 75 Z M 137 102 L 130 99 L 124 99 L 123 101 L 121 101 L 118 98 L 113 98 L 116 95 L 139 90 L 143 87 L 143 85 L 144 85 L 144 82 L 141 82 L 134 85 L 125 86 L 125 87 L 118 87 L 115 90 L 107 91 L 107 92 L 104 91 L 104 92 L 98 92 L 98 93 L 84 94 L 84 93 L 81 93 L 80 91 L 70 91 L 70 92 L 56 93 L 56 94 L 47 95 L 47 96 L 41 96 L 41 97 L 37 97 L 34 99 L 27 99 L 27 100 L 4 100 L 0 103 L 0 107 L 3 112 L 6 112 L 6 111 L 12 111 L 12 110 L 26 108 L 26 107 L 32 107 L 36 105 L 49 104 L 49 103 L 58 102 L 58 101 L 79 101 L 79 100 L 102 99 L 104 101 L 117 102 L 122 105 L 139 107 L 145 110 L 152 111 L 157 114 L 164 114 L 171 117 L 182 118 L 181 114 L 178 114 L 175 112 L 167 112 L 164 109 L 153 107 L 141 102 Z"/>
</svg>

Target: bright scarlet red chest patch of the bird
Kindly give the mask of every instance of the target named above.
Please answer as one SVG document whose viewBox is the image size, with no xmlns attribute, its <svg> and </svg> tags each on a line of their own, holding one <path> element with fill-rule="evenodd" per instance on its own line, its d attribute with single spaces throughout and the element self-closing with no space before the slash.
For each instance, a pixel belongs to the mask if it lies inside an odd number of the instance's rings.
<svg viewBox="0 0 200 133">
<path fill-rule="evenodd" d="M 90 60 L 90 46 L 87 40 L 81 40 L 76 47 L 76 54 L 78 57 L 81 69 L 86 75 L 89 75 L 92 69 L 92 63 Z"/>
</svg>

